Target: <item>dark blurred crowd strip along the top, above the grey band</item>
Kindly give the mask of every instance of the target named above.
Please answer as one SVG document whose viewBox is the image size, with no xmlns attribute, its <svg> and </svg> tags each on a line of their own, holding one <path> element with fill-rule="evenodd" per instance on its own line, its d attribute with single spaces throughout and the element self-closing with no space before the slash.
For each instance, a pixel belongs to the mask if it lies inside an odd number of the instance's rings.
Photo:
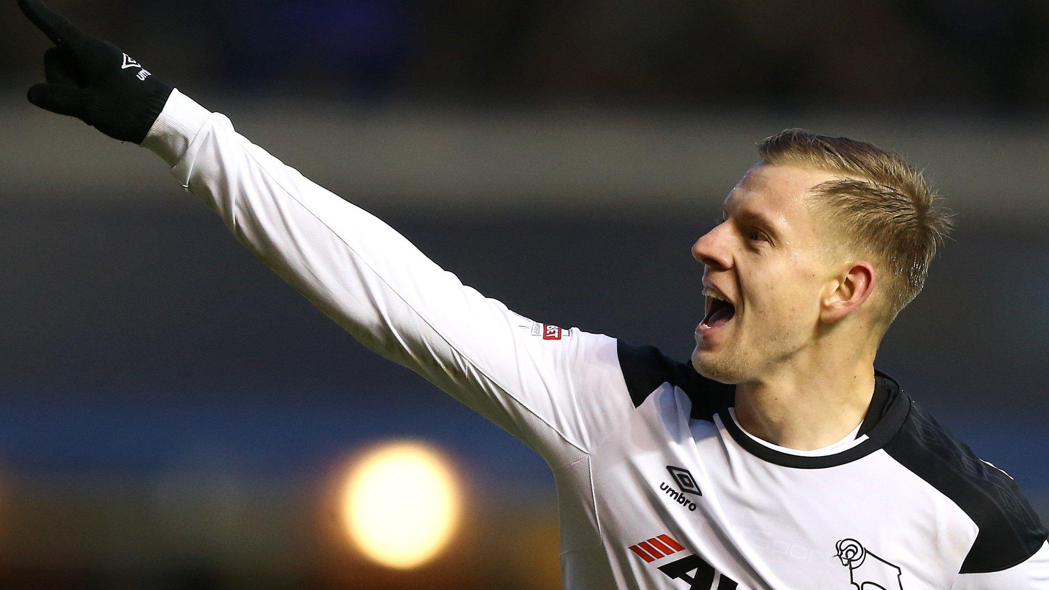
<svg viewBox="0 0 1049 590">
<path fill-rule="evenodd" d="M 179 84 L 263 96 L 1001 113 L 1049 99 L 1039 0 L 51 3 Z M 4 21 L 0 72 L 24 72 L 35 31 Z"/>
</svg>

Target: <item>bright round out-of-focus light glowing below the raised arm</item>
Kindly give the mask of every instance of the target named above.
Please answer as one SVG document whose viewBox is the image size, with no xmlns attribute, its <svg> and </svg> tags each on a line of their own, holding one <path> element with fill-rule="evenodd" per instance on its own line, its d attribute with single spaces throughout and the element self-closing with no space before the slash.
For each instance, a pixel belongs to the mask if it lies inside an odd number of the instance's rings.
<svg viewBox="0 0 1049 590">
<path fill-rule="evenodd" d="M 343 494 L 354 544 L 382 565 L 408 569 L 436 555 L 459 518 L 459 490 L 447 462 L 414 442 L 366 454 Z"/>
</svg>

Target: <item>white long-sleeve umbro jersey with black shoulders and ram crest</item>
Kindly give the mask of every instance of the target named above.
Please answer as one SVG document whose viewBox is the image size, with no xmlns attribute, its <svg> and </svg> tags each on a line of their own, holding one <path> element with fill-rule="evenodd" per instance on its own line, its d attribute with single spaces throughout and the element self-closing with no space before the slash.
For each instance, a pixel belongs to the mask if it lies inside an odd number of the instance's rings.
<svg viewBox="0 0 1049 590">
<path fill-rule="evenodd" d="M 354 338 L 545 460 L 568 589 L 1049 590 L 1012 479 L 886 375 L 853 436 L 777 447 L 731 386 L 515 314 L 177 90 L 144 146 Z"/>
</svg>

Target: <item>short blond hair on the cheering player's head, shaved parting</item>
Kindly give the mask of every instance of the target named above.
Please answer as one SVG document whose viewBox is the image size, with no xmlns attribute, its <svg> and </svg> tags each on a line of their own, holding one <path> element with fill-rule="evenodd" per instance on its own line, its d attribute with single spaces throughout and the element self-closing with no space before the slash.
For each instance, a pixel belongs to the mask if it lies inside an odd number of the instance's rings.
<svg viewBox="0 0 1049 590">
<path fill-rule="evenodd" d="M 873 257 L 875 267 L 881 267 L 881 286 L 887 288 L 882 320 L 887 329 L 921 292 L 937 248 L 952 225 L 921 172 L 874 144 L 805 129 L 776 133 L 762 142 L 758 152 L 765 164 L 838 176 L 811 189 L 814 210 L 847 249 Z"/>
</svg>

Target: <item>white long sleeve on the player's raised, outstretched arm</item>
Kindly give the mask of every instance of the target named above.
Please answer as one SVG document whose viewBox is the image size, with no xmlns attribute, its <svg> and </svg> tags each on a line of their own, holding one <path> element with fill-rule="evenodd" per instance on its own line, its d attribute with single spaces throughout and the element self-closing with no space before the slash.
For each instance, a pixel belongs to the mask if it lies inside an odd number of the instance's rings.
<svg viewBox="0 0 1049 590">
<path fill-rule="evenodd" d="M 239 135 L 224 115 L 175 90 L 143 146 L 356 339 L 555 469 L 588 454 L 633 409 L 615 339 L 536 323 L 485 298 L 380 219 Z"/>
</svg>

